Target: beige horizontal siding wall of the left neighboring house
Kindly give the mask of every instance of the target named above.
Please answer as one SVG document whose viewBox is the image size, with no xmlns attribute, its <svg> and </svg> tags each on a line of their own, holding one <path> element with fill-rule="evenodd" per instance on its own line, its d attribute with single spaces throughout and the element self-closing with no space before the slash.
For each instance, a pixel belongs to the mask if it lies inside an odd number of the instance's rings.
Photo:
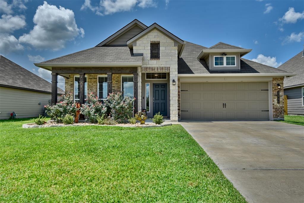
<svg viewBox="0 0 304 203">
<path fill-rule="evenodd" d="M 50 104 L 50 100 L 48 93 L 0 87 L 0 119 L 8 119 L 13 111 L 16 118 L 43 115 L 44 105 Z"/>
</svg>

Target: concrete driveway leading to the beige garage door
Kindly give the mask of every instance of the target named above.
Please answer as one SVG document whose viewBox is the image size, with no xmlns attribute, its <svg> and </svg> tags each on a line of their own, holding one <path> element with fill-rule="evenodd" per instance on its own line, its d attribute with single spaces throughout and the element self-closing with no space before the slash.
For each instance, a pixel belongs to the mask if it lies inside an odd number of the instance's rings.
<svg viewBox="0 0 304 203">
<path fill-rule="evenodd" d="M 276 121 L 180 124 L 248 202 L 304 202 L 304 126 Z"/>
</svg>

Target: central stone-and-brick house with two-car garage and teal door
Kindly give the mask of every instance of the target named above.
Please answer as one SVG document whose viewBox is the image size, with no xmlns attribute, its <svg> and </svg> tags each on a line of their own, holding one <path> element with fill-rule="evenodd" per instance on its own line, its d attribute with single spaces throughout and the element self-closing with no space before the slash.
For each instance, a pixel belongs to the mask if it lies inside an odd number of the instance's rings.
<svg viewBox="0 0 304 203">
<path fill-rule="evenodd" d="M 136 111 L 171 121 L 284 119 L 277 84 L 295 74 L 241 58 L 250 51 L 222 42 L 203 47 L 135 19 L 95 47 L 35 65 L 52 72 L 53 84 L 66 77 L 65 90 L 80 103 L 88 92 L 104 100 L 122 91 L 136 97 Z"/>
</svg>

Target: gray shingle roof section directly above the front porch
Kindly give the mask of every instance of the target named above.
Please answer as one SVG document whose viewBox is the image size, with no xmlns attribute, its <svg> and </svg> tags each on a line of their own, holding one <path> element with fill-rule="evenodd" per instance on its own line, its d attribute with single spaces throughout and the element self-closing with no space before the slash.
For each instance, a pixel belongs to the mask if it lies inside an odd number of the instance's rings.
<svg viewBox="0 0 304 203">
<path fill-rule="evenodd" d="M 127 46 L 92 47 L 42 63 L 140 63 L 143 56 L 133 56 Z"/>
</svg>

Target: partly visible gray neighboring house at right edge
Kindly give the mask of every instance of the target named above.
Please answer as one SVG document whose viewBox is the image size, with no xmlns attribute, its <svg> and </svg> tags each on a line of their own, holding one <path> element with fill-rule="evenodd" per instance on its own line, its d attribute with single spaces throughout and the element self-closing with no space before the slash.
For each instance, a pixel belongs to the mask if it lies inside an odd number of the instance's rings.
<svg viewBox="0 0 304 203">
<path fill-rule="evenodd" d="M 288 114 L 304 115 L 304 51 L 295 55 L 278 69 L 297 75 L 284 79 L 284 95 L 287 95 Z"/>
</svg>

